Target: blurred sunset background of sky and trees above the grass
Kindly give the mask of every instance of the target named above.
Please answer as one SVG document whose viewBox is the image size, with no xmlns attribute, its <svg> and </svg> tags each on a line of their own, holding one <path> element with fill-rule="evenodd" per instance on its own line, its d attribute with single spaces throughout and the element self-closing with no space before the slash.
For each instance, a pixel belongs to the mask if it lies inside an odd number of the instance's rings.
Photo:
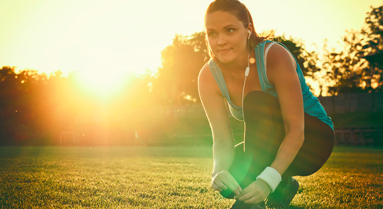
<svg viewBox="0 0 383 209">
<path fill-rule="evenodd" d="M 212 144 L 197 89 L 210 2 L 1 1 L 0 145 Z M 297 58 L 337 143 L 382 145 L 382 2 L 243 3 Z"/>
</svg>

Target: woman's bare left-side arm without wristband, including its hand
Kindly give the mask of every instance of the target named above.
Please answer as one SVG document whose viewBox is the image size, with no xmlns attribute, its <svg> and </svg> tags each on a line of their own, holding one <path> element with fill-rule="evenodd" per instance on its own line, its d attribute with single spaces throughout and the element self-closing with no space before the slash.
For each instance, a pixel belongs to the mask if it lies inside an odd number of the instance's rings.
<svg viewBox="0 0 383 209">
<path fill-rule="evenodd" d="M 242 191 L 228 172 L 234 160 L 234 138 L 225 100 L 216 81 L 205 65 L 198 77 L 198 90 L 213 135 L 212 187 L 218 191 Z M 219 174 L 219 175 L 218 175 Z"/>
</svg>

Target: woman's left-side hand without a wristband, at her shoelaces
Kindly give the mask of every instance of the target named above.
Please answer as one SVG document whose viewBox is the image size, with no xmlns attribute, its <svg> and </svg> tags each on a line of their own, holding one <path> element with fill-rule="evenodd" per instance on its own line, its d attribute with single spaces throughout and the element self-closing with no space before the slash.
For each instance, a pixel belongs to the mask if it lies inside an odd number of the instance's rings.
<svg viewBox="0 0 383 209">
<path fill-rule="evenodd" d="M 214 190 L 222 192 L 223 190 L 230 190 L 236 195 L 239 195 L 242 191 L 240 185 L 227 170 L 223 170 L 217 174 L 213 174 L 211 178 L 211 187 Z"/>
</svg>

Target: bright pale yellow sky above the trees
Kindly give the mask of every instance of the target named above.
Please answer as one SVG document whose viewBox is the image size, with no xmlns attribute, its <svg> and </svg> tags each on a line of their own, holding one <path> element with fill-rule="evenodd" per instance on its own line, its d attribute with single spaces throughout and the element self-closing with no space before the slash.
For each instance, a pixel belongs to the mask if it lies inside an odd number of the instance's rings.
<svg viewBox="0 0 383 209">
<path fill-rule="evenodd" d="M 175 34 L 203 30 L 211 0 L 0 0 L 0 67 L 64 74 L 114 83 L 132 71 L 157 69 Z M 258 32 L 339 47 L 345 30 L 360 30 L 381 0 L 242 1 Z M 107 84 L 107 83 L 104 83 Z"/>
</svg>

